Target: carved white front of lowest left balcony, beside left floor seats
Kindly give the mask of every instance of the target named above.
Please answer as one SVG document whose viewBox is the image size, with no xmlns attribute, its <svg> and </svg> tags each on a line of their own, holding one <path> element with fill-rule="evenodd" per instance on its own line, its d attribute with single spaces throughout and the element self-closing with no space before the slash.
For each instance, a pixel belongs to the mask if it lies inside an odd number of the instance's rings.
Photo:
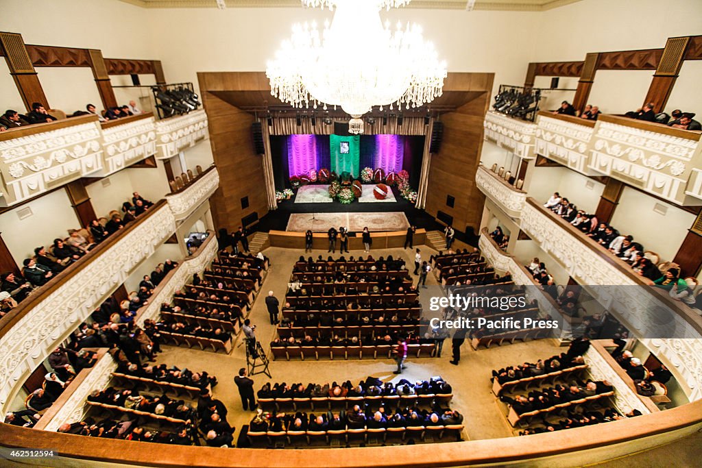
<svg viewBox="0 0 702 468">
<path fill-rule="evenodd" d="M 149 304 L 138 312 L 137 323 L 143 325 L 146 319 L 158 320 L 161 315 L 161 304 L 171 302 L 173 293 L 176 290 L 183 288 L 190 279 L 192 274 L 201 273 L 217 256 L 217 239 L 214 232 L 210 235 L 200 247 L 199 253 L 194 257 L 186 258 L 180 265 L 171 272 L 164 282 L 159 284 L 158 290 L 149 300 Z"/>
</svg>

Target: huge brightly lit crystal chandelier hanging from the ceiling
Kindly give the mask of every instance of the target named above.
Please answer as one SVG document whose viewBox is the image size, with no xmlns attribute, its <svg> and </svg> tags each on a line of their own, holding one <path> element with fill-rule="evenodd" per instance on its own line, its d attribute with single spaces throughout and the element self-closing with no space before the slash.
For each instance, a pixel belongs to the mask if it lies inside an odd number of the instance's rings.
<svg viewBox="0 0 702 468">
<path fill-rule="evenodd" d="M 306 6 L 336 8 L 331 25 L 294 25 L 266 76 L 271 94 L 293 107 L 340 106 L 354 119 L 371 107 L 420 107 L 442 95 L 446 64 L 424 41 L 418 25 L 380 21 L 381 8 L 409 0 L 303 0 Z M 350 126 L 362 133 L 363 126 Z"/>
</svg>

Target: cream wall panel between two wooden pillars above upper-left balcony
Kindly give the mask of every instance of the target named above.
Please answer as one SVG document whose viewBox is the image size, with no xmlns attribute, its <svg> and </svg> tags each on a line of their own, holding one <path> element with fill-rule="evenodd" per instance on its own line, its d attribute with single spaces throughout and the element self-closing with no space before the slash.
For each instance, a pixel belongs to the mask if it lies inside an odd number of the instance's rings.
<svg viewBox="0 0 702 468">
<path fill-rule="evenodd" d="M 61 109 L 66 115 L 86 110 L 88 103 L 97 112 L 105 109 L 88 67 L 37 67 L 37 73 L 51 109 Z"/>
</svg>

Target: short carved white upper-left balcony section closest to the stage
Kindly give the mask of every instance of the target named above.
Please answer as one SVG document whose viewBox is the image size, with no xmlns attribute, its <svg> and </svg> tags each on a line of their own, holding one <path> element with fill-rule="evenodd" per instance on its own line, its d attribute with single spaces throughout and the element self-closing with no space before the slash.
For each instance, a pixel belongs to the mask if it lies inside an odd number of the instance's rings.
<svg viewBox="0 0 702 468">
<path fill-rule="evenodd" d="M 203 109 L 156 122 L 158 159 L 176 156 L 184 148 L 207 138 L 207 115 Z"/>
</svg>

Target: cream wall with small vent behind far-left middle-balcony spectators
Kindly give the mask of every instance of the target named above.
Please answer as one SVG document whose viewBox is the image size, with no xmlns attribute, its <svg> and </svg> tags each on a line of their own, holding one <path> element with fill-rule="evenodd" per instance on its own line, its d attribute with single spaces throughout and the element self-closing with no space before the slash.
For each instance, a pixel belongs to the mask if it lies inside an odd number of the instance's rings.
<svg viewBox="0 0 702 468">
<path fill-rule="evenodd" d="M 20 220 L 17 212 L 27 207 L 32 215 Z M 0 214 L 0 226 L 12 257 L 22 267 L 22 260 L 34 255 L 35 247 L 48 246 L 57 237 L 67 237 L 68 229 L 79 228 L 80 222 L 65 190 L 59 189 Z"/>
</svg>

